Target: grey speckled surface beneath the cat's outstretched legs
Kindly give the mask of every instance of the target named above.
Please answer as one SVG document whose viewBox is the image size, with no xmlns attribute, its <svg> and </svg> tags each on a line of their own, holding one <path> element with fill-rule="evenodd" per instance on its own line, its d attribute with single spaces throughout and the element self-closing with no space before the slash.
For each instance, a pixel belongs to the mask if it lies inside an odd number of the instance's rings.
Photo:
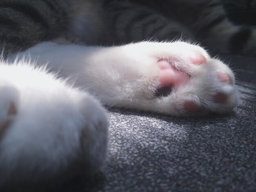
<svg viewBox="0 0 256 192">
<path fill-rule="evenodd" d="M 232 114 L 173 118 L 112 109 L 103 173 L 65 189 L 255 192 L 256 59 L 234 62 L 241 103 Z"/>
</svg>

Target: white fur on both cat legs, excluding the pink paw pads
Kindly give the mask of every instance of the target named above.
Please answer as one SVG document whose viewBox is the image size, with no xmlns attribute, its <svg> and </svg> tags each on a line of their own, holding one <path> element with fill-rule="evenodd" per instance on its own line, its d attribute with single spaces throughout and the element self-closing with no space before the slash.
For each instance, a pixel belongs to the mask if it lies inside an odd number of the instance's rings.
<svg viewBox="0 0 256 192">
<path fill-rule="evenodd" d="M 195 53 L 207 58 L 207 63 L 193 65 L 189 57 Z M 160 71 L 157 61 L 161 58 L 191 75 L 187 85 L 166 97 L 155 96 Z M 231 83 L 220 82 L 218 71 L 226 73 Z M 217 113 L 230 112 L 238 103 L 229 67 L 211 59 L 201 47 L 184 42 L 140 42 L 120 47 L 43 42 L 11 56 L 9 65 L 1 64 L 0 78 L 4 82 L 0 90 L 9 90 L 0 96 L 4 106 L 0 109 L 1 123 L 8 118 L 6 103 L 13 102 L 17 108 L 0 141 L 0 184 L 20 176 L 24 181 L 56 176 L 76 161 L 101 165 L 108 121 L 104 109 L 84 91 L 104 105 L 171 115 L 188 115 L 183 109 L 187 100 L 206 112 Z M 229 95 L 226 104 L 213 102 L 217 92 Z"/>
</svg>

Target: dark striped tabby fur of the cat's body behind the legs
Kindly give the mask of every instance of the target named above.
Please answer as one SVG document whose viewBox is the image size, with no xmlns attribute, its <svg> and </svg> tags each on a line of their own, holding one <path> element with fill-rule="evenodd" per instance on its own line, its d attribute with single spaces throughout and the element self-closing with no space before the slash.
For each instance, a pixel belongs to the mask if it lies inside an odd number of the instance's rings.
<svg viewBox="0 0 256 192">
<path fill-rule="evenodd" d="M 6 54 L 60 37 L 91 45 L 182 37 L 256 54 L 256 30 L 231 24 L 219 0 L 1 0 L 0 26 Z"/>
</svg>

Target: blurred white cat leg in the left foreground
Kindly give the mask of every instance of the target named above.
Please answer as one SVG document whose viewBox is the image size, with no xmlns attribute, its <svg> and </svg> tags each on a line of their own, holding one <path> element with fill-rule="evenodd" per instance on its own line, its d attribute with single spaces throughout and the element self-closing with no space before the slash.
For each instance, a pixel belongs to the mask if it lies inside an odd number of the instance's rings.
<svg viewBox="0 0 256 192">
<path fill-rule="evenodd" d="M 0 64 L 0 189 L 94 172 L 106 154 L 99 102 L 30 65 Z"/>
</svg>

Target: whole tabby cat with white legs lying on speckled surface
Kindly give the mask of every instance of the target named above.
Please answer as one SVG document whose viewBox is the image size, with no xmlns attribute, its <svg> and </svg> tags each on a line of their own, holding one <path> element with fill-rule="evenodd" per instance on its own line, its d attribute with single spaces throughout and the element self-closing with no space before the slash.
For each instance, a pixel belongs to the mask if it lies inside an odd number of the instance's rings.
<svg viewBox="0 0 256 192">
<path fill-rule="evenodd" d="M 256 30 L 232 25 L 218 0 L 157 3 L 0 1 L 0 186 L 97 171 L 102 105 L 173 116 L 238 105 L 233 71 L 180 38 L 254 55 Z"/>
</svg>

